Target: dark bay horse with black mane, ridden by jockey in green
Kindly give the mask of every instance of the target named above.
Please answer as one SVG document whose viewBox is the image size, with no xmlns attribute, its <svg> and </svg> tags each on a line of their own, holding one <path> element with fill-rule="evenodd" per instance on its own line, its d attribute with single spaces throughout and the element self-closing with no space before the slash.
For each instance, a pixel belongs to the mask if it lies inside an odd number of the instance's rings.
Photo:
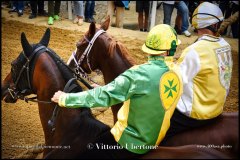
<svg viewBox="0 0 240 160">
<path fill-rule="evenodd" d="M 44 158 L 114 158 L 112 150 L 97 149 L 97 144 L 116 145 L 110 127 L 96 120 L 88 108 L 58 108 L 55 130 L 48 126 L 55 104 L 50 101 L 58 90 L 69 85 L 72 92 L 80 92 L 70 68 L 47 48 L 50 30 L 47 29 L 42 40 L 30 45 L 21 35 L 23 51 L 12 62 L 11 72 L 2 82 L 1 99 L 15 103 L 18 98 L 27 100 L 29 94 L 36 94 L 39 115 L 45 135 Z M 72 81 L 73 80 L 73 81 Z M 71 87 L 75 85 L 76 87 Z M 29 99 L 28 99 L 29 100 Z M 115 150 L 121 154 L 121 150 Z M 159 147 L 145 155 L 146 158 L 228 158 L 215 149 L 199 148 L 195 145 L 182 147 Z M 144 158 L 144 157 L 140 157 Z"/>
</svg>

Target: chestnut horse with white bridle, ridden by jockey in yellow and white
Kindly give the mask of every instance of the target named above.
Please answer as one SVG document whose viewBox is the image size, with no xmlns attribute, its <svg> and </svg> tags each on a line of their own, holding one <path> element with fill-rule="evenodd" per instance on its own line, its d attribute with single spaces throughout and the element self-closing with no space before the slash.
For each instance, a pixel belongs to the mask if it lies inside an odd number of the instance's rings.
<svg viewBox="0 0 240 160">
<path fill-rule="evenodd" d="M 80 66 L 86 73 L 91 73 L 95 69 L 101 70 L 105 83 L 109 83 L 133 65 L 126 48 L 113 40 L 107 33 L 101 32 L 101 30 L 106 31 L 108 27 L 109 18 L 101 24 L 100 28 L 91 23 L 84 37 L 77 42 L 75 56 L 69 58 L 71 68 L 79 68 Z M 89 44 L 91 45 L 90 50 Z M 87 54 L 84 57 L 85 53 Z M 115 110 L 113 116 L 116 119 L 118 108 L 112 107 L 112 109 Z M 238 113 L 223 113 L 213 123 L 182 132 L 161 145 L 180 146 L 187 144 L 202 144 L 208 148 L 218 148 L 236 156 L 238 152 Z"/>
</svg>

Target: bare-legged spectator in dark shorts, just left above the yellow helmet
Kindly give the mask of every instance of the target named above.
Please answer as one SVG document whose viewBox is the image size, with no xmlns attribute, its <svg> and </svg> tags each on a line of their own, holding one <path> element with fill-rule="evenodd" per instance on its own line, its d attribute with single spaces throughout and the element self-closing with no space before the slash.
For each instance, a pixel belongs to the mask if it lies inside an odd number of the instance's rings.
<svg viewBox="0 0 240 160">
<path fill-rule="evenodd" d="M 136 12 L 138 12 L 138 28 L 142 32 L 146 32 L 148 30 L 149 3 L 149 1 L 136 1 Z"/>
</svg>

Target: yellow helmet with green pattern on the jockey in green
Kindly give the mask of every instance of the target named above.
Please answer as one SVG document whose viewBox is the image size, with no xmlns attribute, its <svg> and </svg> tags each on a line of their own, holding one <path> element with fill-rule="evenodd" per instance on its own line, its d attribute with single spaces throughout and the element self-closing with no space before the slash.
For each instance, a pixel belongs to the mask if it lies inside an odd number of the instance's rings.
<svg viewBox="0 0 240 160">
<path fill-rule="evenodd" d="M 148 54 L 161 54 L 170 50 L 170 56 L 173 56 L 177 45 L 181 41 L 177 39 L 176 31 L 167 24 L 159 24 L 153 27 L 148 33 L 142 50 Z"/>
</svg>

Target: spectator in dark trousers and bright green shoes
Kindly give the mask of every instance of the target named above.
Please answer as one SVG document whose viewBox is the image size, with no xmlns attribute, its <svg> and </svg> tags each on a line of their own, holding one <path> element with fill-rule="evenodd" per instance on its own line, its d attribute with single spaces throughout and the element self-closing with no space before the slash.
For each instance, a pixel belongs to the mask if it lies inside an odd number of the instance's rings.
<svg viewBox="0 0 240 160">
<path fill-rule="evenodd" d="M 48 1 L 48 24 L 52 25 L 54 20 L 59 20 L 61 1 Z"/>
</svg>

